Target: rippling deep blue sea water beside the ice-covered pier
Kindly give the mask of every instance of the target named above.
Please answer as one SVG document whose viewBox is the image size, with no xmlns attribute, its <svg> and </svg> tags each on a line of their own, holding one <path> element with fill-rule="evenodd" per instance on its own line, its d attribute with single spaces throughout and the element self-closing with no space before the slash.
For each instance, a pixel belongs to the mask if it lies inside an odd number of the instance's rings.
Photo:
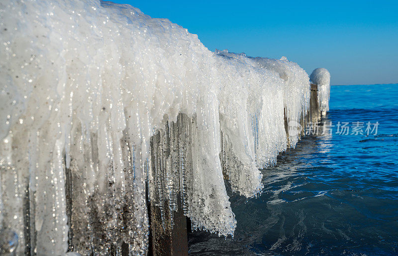
<svg viewBox="0 0 398 256">
<path fill-rule="evenodd" d="M 320 124 L 262 170 L 259 197 L 227 191 L 233 239 L 192 232 L 189 253 L 398 255 L 398 85 L 332 86 Z"/>
</svg>

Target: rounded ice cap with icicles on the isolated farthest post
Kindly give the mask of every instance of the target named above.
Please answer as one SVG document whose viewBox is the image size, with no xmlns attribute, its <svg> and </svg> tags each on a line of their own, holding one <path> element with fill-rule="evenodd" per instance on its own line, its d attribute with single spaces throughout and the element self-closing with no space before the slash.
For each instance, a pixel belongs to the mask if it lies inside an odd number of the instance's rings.
<svg viewBox="0 0 398 256">
<path fill-rule="evenodd" d="M 315 68 L 309 76 L 311 83 L 318 85 L 318 100 L 321 111 L 329 111 L 330 73 L 326 68 Z"/>
</svg>

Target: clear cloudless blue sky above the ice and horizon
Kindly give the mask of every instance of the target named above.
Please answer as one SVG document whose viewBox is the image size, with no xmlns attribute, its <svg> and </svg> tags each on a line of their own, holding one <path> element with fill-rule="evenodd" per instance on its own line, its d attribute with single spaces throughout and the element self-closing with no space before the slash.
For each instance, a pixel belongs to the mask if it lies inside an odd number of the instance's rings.
<svg viewBox="0 0 398 256">
<path fill-rule="evenodd" d="M 170 19 L 210 51 L 286 56 L 308 74 L 329 69 L 331 84 L 398 83 L 398 0 L 114 2 Z"/>
</svg>

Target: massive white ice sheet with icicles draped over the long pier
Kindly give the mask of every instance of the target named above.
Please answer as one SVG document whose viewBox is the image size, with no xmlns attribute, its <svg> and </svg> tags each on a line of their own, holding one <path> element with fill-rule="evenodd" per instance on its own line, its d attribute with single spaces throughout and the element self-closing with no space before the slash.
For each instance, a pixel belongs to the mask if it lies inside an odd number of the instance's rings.
<svg viewBox="0 0 398 256">
<path fill-rule="evenodd" d="M 144 255 L 146 201 L 177 210 L 179 193 L 193 228 L 233 235 L 224 175 L 256 196 L 308 110 L 298 64 L 210 52 L 129 5 L 3 0 L 0 39 L 0 232 L 18 254 Z"/>
</svg>

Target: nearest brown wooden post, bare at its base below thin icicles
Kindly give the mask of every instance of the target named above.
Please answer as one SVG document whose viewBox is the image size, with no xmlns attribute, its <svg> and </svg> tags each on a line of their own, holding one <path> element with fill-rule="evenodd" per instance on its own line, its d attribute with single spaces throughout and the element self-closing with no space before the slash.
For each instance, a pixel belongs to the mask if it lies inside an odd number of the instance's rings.
<svg viewBox="0 0 398 256">
<path fill-rule="evenodd" d="M 177 203 L 177 211 L 171 209 L 169 197 L 163 194 L 164 188 L 168 186 L 167 173 L 165 172 L 170 172 L 170 168 L 172 168 L 173 163 L 170 163 L 173 162 L 172 154 L 174 156 L 177 154 L 174 143 L 179 141 L 180 133 L 186 132 L 185 128 L 181 127 L 182 119 L 186 118 L 185 114 L 180 114 L 180 122 L 177 124 L 171 123 L 171 127 L 169 127 L 168 122 L 165 122 L 165 129 L 156 130 L 151 138 L 151 167 L 148 171 L 152 172 L 153 177 L 155 177 L 154 186 L 159 190 L 159 193 L 162 193 L 162 196 L 159 196 L 156 200 L 154 198 L 150 200 L 149 255 L 188 255 L 187 218 L 182 206 L 181 190 L 176 189 L 176 194 L 173 196 L 174 203 Z M 168 170 L 166 170 L 167 168 Z M 179 173 L 179 175 L 183 174 Z M 157 201 L 158 199 L 159 201 Z"/>
</svg>

